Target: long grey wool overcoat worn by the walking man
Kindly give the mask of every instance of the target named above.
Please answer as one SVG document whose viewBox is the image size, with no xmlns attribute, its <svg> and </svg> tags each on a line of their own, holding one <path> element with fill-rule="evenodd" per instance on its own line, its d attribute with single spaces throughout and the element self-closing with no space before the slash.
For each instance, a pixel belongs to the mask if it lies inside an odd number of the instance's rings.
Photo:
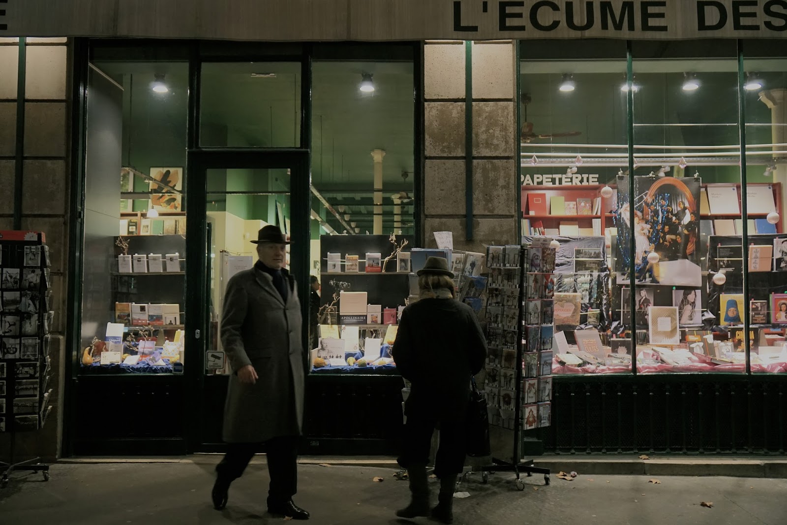
<svg viewBox="0 0 787 525">
<path fill-rule="evenodd" d="M 272 277 L 252 268 L 227 283 L 221 344 L 233 373 L 224 404 L 224 441 L 257 443 L 297 436 L 303 425 L 305 356 L 301 341 L 301 303 L 294 279 L 286 303 Z M 240 382 L 237 371 L 253 365 L 259 378 Z"/>
</svg>

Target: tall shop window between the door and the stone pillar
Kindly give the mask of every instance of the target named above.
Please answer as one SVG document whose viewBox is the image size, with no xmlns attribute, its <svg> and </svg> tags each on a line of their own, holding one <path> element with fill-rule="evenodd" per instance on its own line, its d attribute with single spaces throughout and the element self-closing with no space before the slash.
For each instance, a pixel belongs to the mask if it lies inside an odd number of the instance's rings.
<svg viewBox="0 0 787 525">
<path fill-rule="evenodd" d="M 312 79 L 312 373 L 395 374 L 415 232 L 412 61 L 315 61 Z"/>
</svg>

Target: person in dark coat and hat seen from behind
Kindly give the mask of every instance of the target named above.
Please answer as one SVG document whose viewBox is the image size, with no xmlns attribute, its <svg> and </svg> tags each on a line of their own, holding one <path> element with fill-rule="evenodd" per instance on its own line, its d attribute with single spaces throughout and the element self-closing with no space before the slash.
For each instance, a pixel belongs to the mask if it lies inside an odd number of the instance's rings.
<svg viewBox="0 0 787 525">
<path fill-rule="evenodd" d="M 408 470 L 412 501 L 402 518 L 433 516 L 453 522 L 453 491 L 465 460 L 465 419 L 470 378 L 486 360 L 486 338 L 467 304 L 455 299 L 453 274 L 442 257 L 419 270 L 419 300 L 402 312 L 393 359 L 412 383 L 405 401 L 405 436 L 399 464 Z M 434 475 L 440 478 L 438 505 L 430 510 L 427 464 L 435 427 L 440 446 Z"/>
</svg>

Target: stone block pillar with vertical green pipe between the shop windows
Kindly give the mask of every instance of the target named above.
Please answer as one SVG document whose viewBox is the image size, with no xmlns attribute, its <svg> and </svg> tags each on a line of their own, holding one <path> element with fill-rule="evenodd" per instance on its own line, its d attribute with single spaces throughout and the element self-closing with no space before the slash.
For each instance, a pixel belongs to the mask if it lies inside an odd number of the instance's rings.
<svg viewBox="0 0 787 525">
<path fill-rule="evenodd" d="M 453 231 L 454 247 L 484 251 L 516 239 L 519 146 L 515 125 L 515 43 L 472 46 L 472 151 L 465 151 L 465 46 L 424 46 L 424 244 Z M 467 240 L 467 160 L 472 162 L 473 240 Z"/>
</svg>

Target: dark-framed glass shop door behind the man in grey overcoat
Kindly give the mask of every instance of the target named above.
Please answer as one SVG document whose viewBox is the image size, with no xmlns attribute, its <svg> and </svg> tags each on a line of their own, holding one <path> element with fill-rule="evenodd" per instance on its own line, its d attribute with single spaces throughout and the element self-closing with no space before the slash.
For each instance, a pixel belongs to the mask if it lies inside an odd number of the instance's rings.
<svg viewBox="0 0 787 525">
<path fill-rule="evenodd" d="M 190 153 L 187 257 L 187 423 L 190 452 L 220 452 L 224 398 L 232 370 L 221 345 L 227 281 L 257 261 L 257 231 L 278 225 L 290 236 L 286 267 L 302 315 L 309 307 L 309 157 L 306 151 Z M 196 195 L 202 195 L 198 197 Z M 197 237 L 197 239 L 194 239 Z M 308 327 L 308 323 L 304 323 Z M 303 337 L 307 337 L 304 333 Z"/>
</svg>

